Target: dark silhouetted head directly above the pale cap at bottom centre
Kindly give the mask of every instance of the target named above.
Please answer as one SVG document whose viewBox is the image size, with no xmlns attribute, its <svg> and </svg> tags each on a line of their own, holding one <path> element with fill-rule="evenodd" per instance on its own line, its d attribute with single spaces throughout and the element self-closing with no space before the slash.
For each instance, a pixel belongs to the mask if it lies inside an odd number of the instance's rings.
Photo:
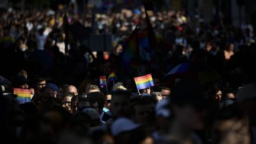
<svg viewBox="0 0 256 144">
<path fill-rule="evenodd" d="M 129 116 L 130 115 L 130 98 L 132 93 L 124 90 L 116 90 L 112 93 L 112 100 L 110 105 L 110 111 L 113 114 L 113 118 Z"/>
</svg>

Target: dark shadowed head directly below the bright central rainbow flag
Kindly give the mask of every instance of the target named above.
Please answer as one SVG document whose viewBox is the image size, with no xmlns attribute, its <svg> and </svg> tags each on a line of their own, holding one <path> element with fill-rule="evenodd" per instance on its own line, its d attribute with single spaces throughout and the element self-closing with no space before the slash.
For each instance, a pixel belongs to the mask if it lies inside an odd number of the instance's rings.
<svg viewBox="0 0 256 144">
<path fill-rule="evenodd" d="M 132 99 L 132 119 L 135 123 L 151 123 L 154 117 L 154 104 L 145 97 Z"/>
</svg>

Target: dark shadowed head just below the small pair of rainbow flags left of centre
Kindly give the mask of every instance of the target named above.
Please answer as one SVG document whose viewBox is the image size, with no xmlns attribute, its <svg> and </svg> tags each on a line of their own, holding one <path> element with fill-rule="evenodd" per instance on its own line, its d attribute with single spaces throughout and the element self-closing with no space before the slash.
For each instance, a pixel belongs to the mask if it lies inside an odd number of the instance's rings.
<svg viewBox="0 0 256 144">
<path fill-rule="evenodd" d="M 105 96 L 102 92 L 91 92 L 87 95 L 92 100 L 92 106 L 96 108 L 99 114 L 103 113 Z M 96 104 L 97 103 L 97 104 Z M 98 108 L 97 108 L 98 107 Z"/>
</svg>

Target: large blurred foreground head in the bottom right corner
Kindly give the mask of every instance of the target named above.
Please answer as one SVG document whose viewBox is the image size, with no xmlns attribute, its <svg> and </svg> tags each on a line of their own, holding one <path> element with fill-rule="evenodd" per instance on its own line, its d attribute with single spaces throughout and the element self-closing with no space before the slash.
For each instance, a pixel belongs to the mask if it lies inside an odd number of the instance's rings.
<svg viewBox="0 0 256 144">
<path fill-rule="evenodd" d="M 251 143 L 249 121 L 236 102 L 216 113 L 211 128 L 213 143 Z"/>
</svg>

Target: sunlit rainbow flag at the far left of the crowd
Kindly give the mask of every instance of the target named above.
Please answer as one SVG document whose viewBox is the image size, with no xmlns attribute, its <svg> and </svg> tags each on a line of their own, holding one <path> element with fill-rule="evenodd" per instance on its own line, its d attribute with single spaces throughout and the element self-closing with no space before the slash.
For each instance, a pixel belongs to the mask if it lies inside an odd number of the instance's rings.
<svg viewBox="0 0 256 144">
<path fill-rule="evenodd" d="M 14 88 L 14 94 L 17 95 L 17 101 L 20 104 L 31 102 L 30 89 Z"/>
</svg>

